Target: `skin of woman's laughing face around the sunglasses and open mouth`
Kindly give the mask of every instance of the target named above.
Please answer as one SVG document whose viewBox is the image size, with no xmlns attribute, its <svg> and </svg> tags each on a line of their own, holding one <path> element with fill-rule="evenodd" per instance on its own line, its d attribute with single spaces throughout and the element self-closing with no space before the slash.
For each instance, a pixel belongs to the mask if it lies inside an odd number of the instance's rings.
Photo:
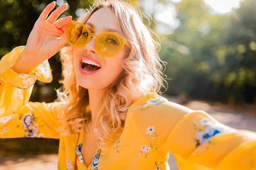
<svg viewBox="0 0 256 170">
<path fill-rule="evenodd" d="M 85 23 L 85 26 L 88 27 L 91 33 L 97 35 L 103 32 L 110 32 L 110 29 L 118 31 L 113 33 L 120 35 L 117 20 L 110 8 L 101 8 L 95 11 Z M 74 47 L 74 73 L 76 82 L 83 88 L 100 90 L 111 85 L 123 71 L 121 64 L 128 52 L 128 47 L 124 46 L 113 57 L 103 57 L 95 50 L 94 42 L 95 38 L 93 37 L 85 46 Z M 82 59 L 93 61 L 99 64 L 101 68 L 97 71 L 84 71 L 81 68 Z"/>
</svg>

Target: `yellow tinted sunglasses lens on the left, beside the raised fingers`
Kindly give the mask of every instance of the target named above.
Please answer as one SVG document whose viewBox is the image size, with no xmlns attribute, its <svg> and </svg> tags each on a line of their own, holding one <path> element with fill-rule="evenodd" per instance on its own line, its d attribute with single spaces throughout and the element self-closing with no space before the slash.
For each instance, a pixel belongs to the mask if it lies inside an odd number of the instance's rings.
<svg viewBox="0 0 256 170">
<path fill-rule="evenodd" d="M 88 40 L 88 29 L 80 24 L 73 24 L 67 30 L 67 41 L 75 46 L 83 46 Z"/>
</svg>

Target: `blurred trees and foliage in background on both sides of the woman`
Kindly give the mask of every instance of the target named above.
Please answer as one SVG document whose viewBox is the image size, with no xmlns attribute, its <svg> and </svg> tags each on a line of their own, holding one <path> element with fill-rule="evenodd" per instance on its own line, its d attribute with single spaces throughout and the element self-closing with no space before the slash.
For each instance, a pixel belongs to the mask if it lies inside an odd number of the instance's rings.
<svg viewBox="0 0 256 170">
<path fill-rule="evenodd" d="M 138 6 L 140 1 L 133 3 Z M 34 23 L 50 2 L 52 0 L 0 0 L 0 58 L 14 47 L 26 44 Z M 57 7 L 63 2 L 66 1 L 57 0 Z M 72 15 L 75 19 L 89 3 L 88 0 L 70 0 L 69 8 L 61 17 Z M 157 3 L 173 4 L 170 0 Z M 234 11 L 237 21 L 231 15 L 211 14 L 202 0 L 183 0 L 175 4 L 180 25 L 171 34 L 159 35 L 162 42 L 159 55 L 168 62 L 164 73 L 171 79 L 166 93 L 255 104 L 255 7 L 253 0 L 243 3 Z M 154 14 L 151 13 L 153 18 Z M 152 22 L 151 28 L 155 30 L 157 25 Z M 49 59 L 54 80 L 51 84 L 37 81 L 31 101 L 52 102 L 56 98 L 54 88 L 60 86 L 61 74 L 58 60 L 59 53 Z"/>
</svg>

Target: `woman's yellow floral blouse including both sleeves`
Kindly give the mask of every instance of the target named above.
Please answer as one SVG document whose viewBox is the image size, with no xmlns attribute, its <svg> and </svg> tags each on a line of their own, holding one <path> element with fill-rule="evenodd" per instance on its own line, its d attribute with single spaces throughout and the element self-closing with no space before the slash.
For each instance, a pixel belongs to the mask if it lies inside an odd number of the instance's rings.
<svg viewBox="0 0 256 170">
<path fill-rule="evenodd" d="M 236 130 L 202 110 L 169 102 L 147 93 L 127 112 L 124 131 L 95 151 L 86 167 L 81 155 L 83 133 L 59 136 L 58 110 L 63 102 L 28 102 L 36 79 L 51 82 L 46 60 L 27 74 L 14 72 L 24 46 L 0 61 L 0 138 L 45 137 L 60 139 L 58 169 L 166 170 L 171 152 L 180 170 L 256 170 L 256 133 Z M 82 130 L 84 131 L 84 130 Z M 75 163 L 76 162 L 76 163 Z"/>
</svg>

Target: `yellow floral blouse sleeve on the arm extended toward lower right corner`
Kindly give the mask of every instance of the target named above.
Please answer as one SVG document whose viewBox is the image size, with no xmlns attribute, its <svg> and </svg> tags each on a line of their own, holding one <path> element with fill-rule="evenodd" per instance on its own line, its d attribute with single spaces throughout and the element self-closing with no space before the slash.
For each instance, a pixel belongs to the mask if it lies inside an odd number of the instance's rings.
<svg viewBox="0 0 256 170">
<path fill-rule="evenodd" d="M 220 124 L 148 93 L 130 109 L 139 137 L 151 148 L 171 152 L 180 170 L 255 170 L 256 133 Z"/>
</svg>

